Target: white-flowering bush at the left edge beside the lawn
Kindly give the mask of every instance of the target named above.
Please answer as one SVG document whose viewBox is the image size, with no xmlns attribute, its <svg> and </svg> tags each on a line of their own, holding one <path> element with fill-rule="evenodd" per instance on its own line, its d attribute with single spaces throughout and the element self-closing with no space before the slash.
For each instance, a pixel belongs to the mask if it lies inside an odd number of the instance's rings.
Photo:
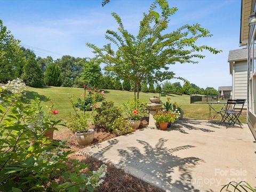
<svg viewBox="0 0 256 192">
<path fill-rule="evenodd" d="M 20 79 L 16 78 L 2 86 L 3 90 L 10 91 L 11 93 L 21 94 L 26 91 L 26 84 Z"/>
</svg>

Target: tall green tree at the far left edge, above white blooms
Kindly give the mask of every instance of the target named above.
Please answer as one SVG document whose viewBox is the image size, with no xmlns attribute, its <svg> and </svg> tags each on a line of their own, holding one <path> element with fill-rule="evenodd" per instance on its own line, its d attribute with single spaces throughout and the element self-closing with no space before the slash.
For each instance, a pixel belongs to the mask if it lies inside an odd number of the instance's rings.
<svg viewBox="0 0 256 192">
<path fill-rule="evenodd" d="M 7 83 L 22 74 L 25 57 L 19 43 L 0 20 L 0 83 Z"/>
</svg>

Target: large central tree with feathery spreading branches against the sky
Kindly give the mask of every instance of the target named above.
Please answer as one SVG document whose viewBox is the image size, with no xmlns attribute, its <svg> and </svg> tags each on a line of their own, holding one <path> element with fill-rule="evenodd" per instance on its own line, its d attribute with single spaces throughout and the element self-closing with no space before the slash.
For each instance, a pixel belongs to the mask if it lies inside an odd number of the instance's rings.
<svg viewBox="0 0 256 192">
<path fill-rule="evenodd" d="M 161 12 L 156 11 L 157 5 Z M 211 37 L 209 30 L 202 28 L 198 23 L 184 25 L 169 33 L 170 17 L 177 11 L 176 7 L 169 7 L 165 0 L 158 0 L 151 4 L 148 13 L 144 13 L 140 21 L 137 36 L 127 31 L 121 18 L 112 13 L 118 23 L 118 32 L 106 31 L 106 38 L 117 46 L 111 44 L 99 48 L 94 44 L 86 45 L 105 63 L 105 70 L 110 71 L 118 78 L 129 79 L 135 86 L 139 98 L 140 84 L 143 82 L 158 82 L 175 77 L 169 65 L 179 63 L 197 63 L 194 58 L 204 58 L 200 54 L 203 50 L 217 54 L 220 51 L 207 45 L 197 45 L 198 39 Z"/>
</svg>

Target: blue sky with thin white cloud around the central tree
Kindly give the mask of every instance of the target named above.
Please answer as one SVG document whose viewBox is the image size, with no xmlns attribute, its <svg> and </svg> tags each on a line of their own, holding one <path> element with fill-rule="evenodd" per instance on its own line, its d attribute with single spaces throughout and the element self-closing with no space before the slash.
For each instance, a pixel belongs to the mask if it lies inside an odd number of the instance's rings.
<svg viewBox="0 0 256 192">
<path fill-rule="evenodd" d="M 117 28 L 111 12 L 118 13 L 125 28 L 137 34 L 142 13 L 152 2 L 111 0 L 102 7 L 101 0 L 0 0 L 0 19 L 15 38 L 25 47 L 33 48 L 37 55 L 93 57 L 85 43 L 100 47 L 108 43 L 105 31 Z M 170 31 L 187 23 L 200 23 L 213 34 L 200 43 L 223 51 L 218 55 L 204 52 L 206 58 L 198 64 L 177 63 L 170 70 L 203 88 L 231 85 L 227 59 L 229 50 L 239 49 L 241 1 L 173 0 L 169 5 L 178 7 L 178 12 L 171 18 Z"/>
</svg>

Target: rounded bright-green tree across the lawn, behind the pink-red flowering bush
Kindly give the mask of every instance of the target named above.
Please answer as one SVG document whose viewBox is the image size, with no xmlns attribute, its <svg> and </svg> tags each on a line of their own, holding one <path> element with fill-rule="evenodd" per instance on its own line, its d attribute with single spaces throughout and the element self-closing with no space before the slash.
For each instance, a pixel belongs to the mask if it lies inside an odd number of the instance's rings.
<svg viewBox="0 0 256 192">
<path fill-rule="evenodd" d="M 93 59 L 84 62 L 84 70 L 81 77 L 84 84 L 89 83 L 92 87 L 98 87 L 102 77 L 100 63 L 95 62 Z"/>
</svg>

